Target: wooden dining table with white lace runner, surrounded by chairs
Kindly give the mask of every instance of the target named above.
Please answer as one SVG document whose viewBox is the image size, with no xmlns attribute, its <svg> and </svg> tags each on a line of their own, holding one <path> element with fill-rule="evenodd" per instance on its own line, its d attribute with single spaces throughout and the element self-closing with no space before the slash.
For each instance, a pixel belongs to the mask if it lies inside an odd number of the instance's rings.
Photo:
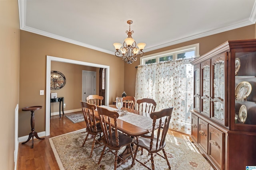
<svg viewBox="0 0 256 170">
<path fill-rule="evenodd" d="M 109 106 L 97 106 L 103 107 L 110 111 L 118 111 L 115 105 Z M 94 111 L 95 118 L 100 119 L 98 115 L 97 109 Z M 110 123 L 114 125 L 114 119 L 110 119 Z M 153 120 L 150 118 L 150 114 L 142 111 L 138 111 L 135 109 L 122 107 L 121 114 L 117 119 L 117 128 L 119 131 L 125 133 L 126 135 L 135 138 L 142 135 L 146 135 L 152 131 L 152 123 Z M 158 128 L 159 123 L 156 123 L 156 127 Z M 136 146 L 132 144 L 132 149 L 135 150 Z M 131 156 L 128 147 L 119 155 L 124 161 L 127 161 Z M 122 160 L 118 158 L 118 164 Z"/>
</svg>

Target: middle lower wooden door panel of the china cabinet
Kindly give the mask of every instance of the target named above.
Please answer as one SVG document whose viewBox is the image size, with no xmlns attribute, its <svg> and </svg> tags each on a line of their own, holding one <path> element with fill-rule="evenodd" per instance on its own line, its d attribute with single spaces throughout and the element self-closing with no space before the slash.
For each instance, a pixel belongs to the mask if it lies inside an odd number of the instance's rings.
<svg viewBox="0 0 256 170">
<path fill-rule="evenodd" d="M 208 153 L 208 123 L 198 118 L 198 144 Z"/>
</svg>

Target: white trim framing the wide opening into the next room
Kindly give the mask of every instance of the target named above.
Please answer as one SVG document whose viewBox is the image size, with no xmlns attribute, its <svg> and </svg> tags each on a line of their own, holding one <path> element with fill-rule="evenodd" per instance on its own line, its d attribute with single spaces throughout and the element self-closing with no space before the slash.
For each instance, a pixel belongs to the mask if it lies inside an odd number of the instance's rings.
<svg viewBox="0 0 256 170">
<path fill-rule="evenodd" d="M 45 111 L 45 136 L 50 135 L 50 74 L 51 74 L 51 61 L 58 61 L 71 64 L 79 64 L 84 66 L 93 66 L 98 68 L 106 68 L 106 104 L 109 103 L 109 66 L 87 63 L 83 61 L 76 61 L 70 59 L 63 59 L 59 57 L 46 56 L 46 111 Z"/>
</svg>

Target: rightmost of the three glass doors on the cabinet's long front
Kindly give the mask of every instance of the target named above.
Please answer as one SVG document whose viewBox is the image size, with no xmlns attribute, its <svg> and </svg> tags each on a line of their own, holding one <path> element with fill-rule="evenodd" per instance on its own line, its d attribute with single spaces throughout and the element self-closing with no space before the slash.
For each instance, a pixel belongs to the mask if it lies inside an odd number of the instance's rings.
<svg viewBox="0 0 256 170">
<path fill-rule="evenodd" d="M 225 58 L 226 53 L 212 58 L 212 119 L 225 122 Z"/>
</svg>

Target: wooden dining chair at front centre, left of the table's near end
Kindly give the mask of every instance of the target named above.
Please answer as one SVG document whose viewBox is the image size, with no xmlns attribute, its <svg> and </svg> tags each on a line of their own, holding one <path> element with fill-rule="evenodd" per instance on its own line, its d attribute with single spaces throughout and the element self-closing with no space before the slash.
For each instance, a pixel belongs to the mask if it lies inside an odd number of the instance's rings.
<svg viewBox="0 0 256 170">
<path fill-rule="evenodd" d="M 133 139 L 123 133 L 120 133 L 120 131 L 118 131 L 117 118 L 119 117 L 119 114 L 117 111 L 110 111 L 102 107 L 97 107 L 97 111 L 100 116 L 100 125 L 103 131 L 102 140 L 104 143 L 104 148 L 100 155 L 98 164 L 100 164 L 100 161 L 102 159 L 102 156 L 104 155 L 105 149 L 106 147 L 108 147 L 109 150 L 107 152 L 112 152 L 113 154 L 115 154 L 114 169 L 116 170 L 118 166 L 120 166 L 122 163 L 125 162 L 123 158 L 118 156 L 118 151 L 122 149 L 122 147 L 129 148 L 130 154 L 133 160 L 133 152 L 131 147 L 131 144 L 133 143 Z M 113 152 L 112 150 L 115 150 L 115 152 Z M 117 166 L 118 158 L 121 160 L 121 163 Z"/>
</svg>

